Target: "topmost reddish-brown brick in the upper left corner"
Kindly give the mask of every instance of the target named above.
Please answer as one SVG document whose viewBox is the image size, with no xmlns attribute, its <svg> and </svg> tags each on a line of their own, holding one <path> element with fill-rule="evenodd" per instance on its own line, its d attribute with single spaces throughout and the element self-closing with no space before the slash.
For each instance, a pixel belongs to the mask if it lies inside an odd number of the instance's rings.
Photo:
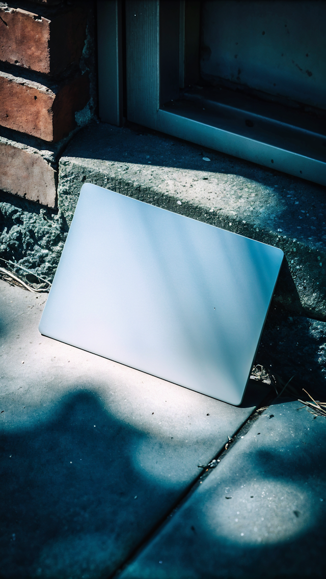
<svg viewBox="0 0 326 579">
<path fill-rule="evenodd" d="M 81 57 L 86 31 L 82 2 L 52 17 L 4 5 L 0 17 L 0 60 L 4 62 L 57 74 Z"/>
</svg>

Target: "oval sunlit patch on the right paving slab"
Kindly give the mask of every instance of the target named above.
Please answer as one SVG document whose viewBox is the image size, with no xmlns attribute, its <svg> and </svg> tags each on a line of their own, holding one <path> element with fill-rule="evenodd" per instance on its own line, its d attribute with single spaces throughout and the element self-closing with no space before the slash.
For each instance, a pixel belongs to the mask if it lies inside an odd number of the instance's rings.
<svg viewBox="0 0 326 579">
<path fill-rule="evenodd" d="M 318 501 L 288 479 L 220 489 L 204 507 L 207 524 L 217 537 L 248 545 L 283 543 L 307 532 L 316 523 L 317 510 Z"/>
</svg>

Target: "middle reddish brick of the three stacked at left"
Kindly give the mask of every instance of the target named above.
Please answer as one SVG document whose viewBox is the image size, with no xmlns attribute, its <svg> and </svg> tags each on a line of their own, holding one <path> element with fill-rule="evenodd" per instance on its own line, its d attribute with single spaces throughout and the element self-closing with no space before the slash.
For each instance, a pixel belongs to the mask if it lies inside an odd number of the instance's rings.
<svg viewBox="0 0 326 579">
<path fill-rule="evenodd" d="M 86 75 L 51 88 L 0 71 L 0 124 L 59 141 L 76 126 L 75 112 L 89 100 Z"/>
</svg>

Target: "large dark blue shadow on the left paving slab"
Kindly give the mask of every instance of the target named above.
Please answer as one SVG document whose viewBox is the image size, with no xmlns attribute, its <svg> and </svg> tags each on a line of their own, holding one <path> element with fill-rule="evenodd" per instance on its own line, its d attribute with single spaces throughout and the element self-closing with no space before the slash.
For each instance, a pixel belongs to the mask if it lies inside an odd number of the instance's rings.
<svg viewBox="0 0 326 579">
<path fill-rule="evenodd" d="M 148 434 L 75 389 L 50 419 L 1 435 L 2 577 L 107 577 L 183 490 L 137 465 L 139 447 L 162 460 Z"/>
</svg>

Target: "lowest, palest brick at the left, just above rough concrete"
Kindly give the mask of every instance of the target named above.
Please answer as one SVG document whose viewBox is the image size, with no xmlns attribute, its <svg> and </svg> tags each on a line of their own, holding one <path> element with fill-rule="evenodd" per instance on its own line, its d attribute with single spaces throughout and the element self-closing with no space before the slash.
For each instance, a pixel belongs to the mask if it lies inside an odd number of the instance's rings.
<svg viewBox="0 0 326 579">
<path fill-rule="evenodd" d="M 1 142 L 2 141 L 2 142 Z M 56 206 L 56 171 L 37 151 L 0 141 L 0 189 Z"/>
</svg>

